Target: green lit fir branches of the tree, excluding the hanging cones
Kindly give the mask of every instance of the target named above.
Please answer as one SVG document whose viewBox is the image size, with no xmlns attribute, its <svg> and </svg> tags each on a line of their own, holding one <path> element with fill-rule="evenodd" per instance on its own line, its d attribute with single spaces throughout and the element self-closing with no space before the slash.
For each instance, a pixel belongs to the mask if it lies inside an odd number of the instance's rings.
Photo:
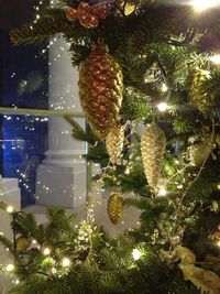
<svg viewBox="0 0 220 294">
<path fill-rule="evenodd" d="M 216 45 L 206 41 L 210 35 L 211 40 L 220 37 L 219 10 L 198 15 L 189 7 L 155 2 L 141 1 L 130 15 L 113 2 L 109 17 L 100 20 L 98 28 L 87 29 L 78 20 L 70 22 L 66 18 L 67 8 L 76 9 L 78 2 L 62 0 L 56 8 L 47 8 L 36 23 L 11 32 L 14 44 L 40 43 L 63 34 L 70 43 L 73 66 L 79 68 L 95 44 L 108 45 L 124 81 L 120 121 L 127 138 L 120 163 L 109 162 L 105 142 L 90 130 L 85 131 L 70 116 L 64 118 L 73 127 L 73 137 L 89 143 L 84 156 L 101 164 L 103 173 L 94 178 L 101 178 L 106 187 L 117 187 L 122 194 L 142 196 L 124 200 L 124 206 L 141 210 L 140 227 L 116 239 L 108 239 L 88 224 L 90 233 L 84 237 L 82 227 L 73 227 L 75 216 L 61 208 L 48 209 L 47 224 L 40 226 L 31 214 L 13 213 L 13 242 L 2 236 L 0 241 L 11 250 L 15 274 L 24 284 L 11 293 L 199 293 L 183 279 L 175 255 L 179 244 L 194 250 L 198 265 L 219 274 L 219 251 L 210 233 L 219 225 L 220 70 L 209 64 L 207 52 L 215 52 Z M 190 72 L 196 68 L 210 72 L 210 77 L 199 85 L 190 80 Z M 198 94 L 198 102 L 209 98 L 207 113 L 190 105 L 189 84 Z M 161 101 L 168 104 L 167 112 L 157 110 Z M 148 187 L 144 175 L 138 129 L 139 122 L 147 124 L 152 120 L 163 128 L 167 140 L 162 178 L 155 189 Z M 194 166 L 190 148 L 207 138 L 213 138 L 212 152 L 200 166 Z M 160 194 L 161 188 L 166 188 L 165 196 Z M 3 204 L 0 206 L 6 209 Z M 19 236 L 36 240 L 38 247 L 18 252 Z M 42 253 L 45 247 L 52 250 L 50 257 Z M 139 260 L 132 258 L 134 248 L 143 253 Z M 62 268 L 63 257 L 72 261 L 68 269 Z M 210 258 L 217 262 L 210 265 Z"/>
</svg>

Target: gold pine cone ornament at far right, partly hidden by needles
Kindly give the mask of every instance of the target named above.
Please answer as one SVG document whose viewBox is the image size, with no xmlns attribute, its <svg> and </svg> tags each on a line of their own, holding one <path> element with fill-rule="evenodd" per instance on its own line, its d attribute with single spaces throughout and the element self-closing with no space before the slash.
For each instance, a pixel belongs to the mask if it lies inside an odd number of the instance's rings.
<svg viewBox="0 0 220 294">
<path fill-rule="evenodd" d="M 195 69 L 189 78 L 189 98 L 194 105 L 202 113 L 206 113 L 212 107 L 213 99 L 200 91 L 201 83 L 209 78 L 209 72 Z"/>
</svg>

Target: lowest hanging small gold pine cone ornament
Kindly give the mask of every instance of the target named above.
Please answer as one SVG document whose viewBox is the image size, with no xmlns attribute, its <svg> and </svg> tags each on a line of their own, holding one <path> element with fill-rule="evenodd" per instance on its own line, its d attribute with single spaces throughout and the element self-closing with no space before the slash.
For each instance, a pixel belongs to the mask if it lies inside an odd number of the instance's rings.
<svg viewBox="0 0 220 294">
<path fill-rule="evenodd" d="M 108 200 L 108 215 L 112 224 L 117 225 L 123 214 L 123 199 L 119 190 L 113 190 Z"/>
</svg>

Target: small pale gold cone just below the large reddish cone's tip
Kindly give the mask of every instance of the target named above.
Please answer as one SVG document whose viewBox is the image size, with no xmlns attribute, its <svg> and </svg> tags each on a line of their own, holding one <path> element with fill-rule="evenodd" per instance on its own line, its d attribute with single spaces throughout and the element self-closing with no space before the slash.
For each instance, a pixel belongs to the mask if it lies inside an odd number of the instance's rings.
<svg viewBox="0 0 220 294">
<path fill-rule="evenodd" d="M 106 138 L 107 152 L 112 164 L 119 164 L 120 155 L 123 150 L 124 130 L 122 126 L 116 126 L 110 129 Z"/>
</svg>

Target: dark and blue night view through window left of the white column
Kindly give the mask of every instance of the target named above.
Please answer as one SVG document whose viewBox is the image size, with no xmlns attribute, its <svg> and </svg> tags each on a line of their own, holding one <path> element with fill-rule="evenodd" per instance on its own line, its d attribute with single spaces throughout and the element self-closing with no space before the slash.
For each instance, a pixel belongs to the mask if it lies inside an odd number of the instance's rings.
<svg viewBox="0 0 220 294">
<path fill-rule="evenodd" d="M 10 30 L 34 20 L 34 0 L 0 0 L 0 107 L 47 109 L 46 44 L 13 46 Z M 34 203 L 35 170 L 47 149 L 42 117 L 0 115 L 0 160 L 4 177 L 19 177 L 22 206 Z"/>
</svg>

